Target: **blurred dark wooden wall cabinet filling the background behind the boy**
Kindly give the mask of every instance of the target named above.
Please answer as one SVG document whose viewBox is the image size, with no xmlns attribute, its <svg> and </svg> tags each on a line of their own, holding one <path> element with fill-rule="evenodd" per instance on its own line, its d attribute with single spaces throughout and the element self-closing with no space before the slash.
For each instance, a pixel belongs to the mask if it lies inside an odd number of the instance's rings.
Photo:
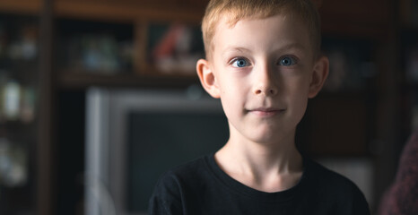
<svg viewBox="0 0 418 215">
<path fill-rule="evenodd" d="M 4 22 L 3 14 L 35 17 L 38 35 L 42 35 L 37 40 L 39 56 L 30 63 L 0 57 L 0 66 L 3 66 L 0 74 L 5 68 L 4 62 L 22 67 L 22 71 L 36 68 L 30 75 L 22 72 L 19 80 L 29 83 L 39 96 L 35 96 L 37 114 L 33 123 L 0 122 L 0 138 L 4 136 L 5 127 L 16 133 L 22 127 L 22 136 L 30 145 L 29 186 L 8 191 L 0 186 L 0 213 L 11 210 L 7 212 L 15 214 L 18 208 L 45 215 L 67 212 L 60 211 L 62 209 L 77 213 L 76 208 L 83 204 L 80 177 L 83 172 L 84 90 L 91 86 L 178 88 L 197 83 L 194 63 L 190 62 L 203 55 L 199 24 L 207 2 L 0 0 L 0 24 Z M 406 64 L 411 61 L 402 65 L 398 58 L 391 61 L 393 58 L 388 55 L 396 56 L 399 52 L 401 56 L 410 55 L 409 51 L 400 51 L 396 40 L 398 27 L 404 25 L 397 22 L 393 8 L 397 3 L 391 0 L 315 2 L 321 13 L 324 49 L 331 61 L 339 64 L 333 63 L 333 74 L 326 89 L 309 101 L 308 112 L 300 126 L 300 139 L 304 142 L 301 147 L 317 158 L 378 158 L 380 170 L 376 170 L 375 176 L 388 176 L 396 161 L 387 163 L 391 170 L 382 174 L 387 165 L 380 161 L 388 153 L 379 154 L 381 145 L 390 148 L 400 142 L 403 134 L 396 118 L 403 117 L 405 121 L 410 115 L 402 116 L 402 113 L 416 112 L 409 105 L 397 105 L 402 97 L 399 91 L 409 93 L 407 102 L 414 103 L 414 109 L 417 107 L 414 96 L 418 93 L 416 82 L 404 88 L 394 79 L 399 71 L 408 73 Z M 405 5 L 411 4 L 414 1 L 404 0 L 399 7 L 409 11 L 410 7 Z M 407 13 L 406 18 L 399 19 L 406 19 L 408 22 L 403 23 L 411 26 L 414 14 Z M 407 33 L 405 37 L 416 43 L 416 28 L 408 28 L 409 31 L 414 33 Z M 187 46 L 176 49 L 179 47 L 173 46 L 176 41 L 170 41 L 170 35 L 188 38 Z M 0 47 L 1 37 L 0 29 Z M 339 76 L 342 71 L 337 68 L 341 66 L 346 70 L 345 76 Z M 404 81 L 408 79 L 405 77 Z M 2 80 L 0 86 L 5 86 Z M 389 159 L 395 157 L 392 155 Z M 388 180 L 376 185 L 376 201 L 386 184 Z M 23 193 L 30 193 L 31 197 L 22 198 L 22 204 L 8 206 L 4 202 L 4 198 L 19 199 Z"/>
</svg>

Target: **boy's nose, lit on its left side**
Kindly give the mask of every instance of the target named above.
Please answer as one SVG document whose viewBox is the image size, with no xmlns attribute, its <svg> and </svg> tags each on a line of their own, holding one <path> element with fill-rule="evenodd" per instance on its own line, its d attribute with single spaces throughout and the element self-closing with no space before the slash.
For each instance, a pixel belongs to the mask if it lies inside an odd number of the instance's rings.
<svg viewBox="0 0 418 215">
<path fill-rule="evenodd" d="M 277 78 L 269 65 L 255 68 L 255 84 L 253 92 L 256 95 L 274 96 L 278 91 Z"/>
</svg>

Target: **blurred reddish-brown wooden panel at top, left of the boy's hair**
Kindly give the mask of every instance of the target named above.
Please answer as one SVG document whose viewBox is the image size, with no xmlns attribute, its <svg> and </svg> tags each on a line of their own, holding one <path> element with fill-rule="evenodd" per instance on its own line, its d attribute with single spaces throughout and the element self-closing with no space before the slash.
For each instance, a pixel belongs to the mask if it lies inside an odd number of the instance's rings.
<svg viewBox="0 0 418 215">
<path fill-rule="evenodd" d="M 193 2 L 193 3 L 191 3 Z M 146 19 L 199 20 L 205 1 L 70 1 L 54 2 L 57 17 L 110 21 Z"/>
</svg>

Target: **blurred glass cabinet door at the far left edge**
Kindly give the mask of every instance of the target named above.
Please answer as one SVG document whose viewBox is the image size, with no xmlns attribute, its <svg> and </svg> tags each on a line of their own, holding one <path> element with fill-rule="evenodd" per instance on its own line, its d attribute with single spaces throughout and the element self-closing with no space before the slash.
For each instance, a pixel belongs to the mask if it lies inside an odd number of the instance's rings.
<svg viewBox="0 0 418 215">
<path fill-rule="evenodd" d="M 33 214 L 39 19 L 0 13 L 0 214 Z"/>
</svg>

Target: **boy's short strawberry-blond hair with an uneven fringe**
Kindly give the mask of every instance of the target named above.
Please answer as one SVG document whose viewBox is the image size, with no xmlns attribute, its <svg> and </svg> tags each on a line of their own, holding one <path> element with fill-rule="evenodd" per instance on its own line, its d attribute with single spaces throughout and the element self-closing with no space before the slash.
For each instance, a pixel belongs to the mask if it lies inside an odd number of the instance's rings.
<svg viewBox="0 0 418 215">
<path fill-rule="evenodd" d="M 206 57 L 210 57 L 213 51 L 216 26 L 223 18 L 232 27 L 242 19 L 265 19 L 277 14 L 297 15 L 305 22 L 314 57 L 318 57 L 321 46 L 319 15 L 310 0 L 211 0 L 202 21 Z"/>
</svg>

